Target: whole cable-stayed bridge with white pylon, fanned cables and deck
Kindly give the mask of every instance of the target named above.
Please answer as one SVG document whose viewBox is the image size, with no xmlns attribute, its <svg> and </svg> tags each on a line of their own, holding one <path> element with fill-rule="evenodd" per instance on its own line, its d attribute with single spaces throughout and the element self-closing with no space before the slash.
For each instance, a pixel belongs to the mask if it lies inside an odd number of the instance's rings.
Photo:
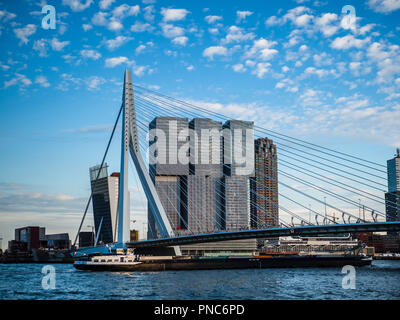
<svg viewBox="0 0 400 320">
<path fill-rule="evenodd" d="M 387 177 L 382 164 L 135 85 L 127 70 L 122 106 L 100 168 L 120 118 L 115 241 L 108 247 L 173 246 L 179 254 L 180 245 L 193 243 L 400 231 L 400 222 L 386 222 L 386 211 L 399 210 L 400 200 L 385 200 Z M 158 131 L 154 133 L 154 129 Z M 208 132 L 204 139 L 197 136 L 200 129 Z M 271 152 L 275 154 L 268 154 Z M 203 161 L 211 156 L 217 160 Z M 242 160 L 239 164 L 235 156 Z M 178 161 L 159 162 L 171 157 Z M 148 201 L 149 230 L 144 241 L 129 241 L 130 164 Z M 84 248 L 82 252 L 106 252 L 108 247 Z"/>
</svg>

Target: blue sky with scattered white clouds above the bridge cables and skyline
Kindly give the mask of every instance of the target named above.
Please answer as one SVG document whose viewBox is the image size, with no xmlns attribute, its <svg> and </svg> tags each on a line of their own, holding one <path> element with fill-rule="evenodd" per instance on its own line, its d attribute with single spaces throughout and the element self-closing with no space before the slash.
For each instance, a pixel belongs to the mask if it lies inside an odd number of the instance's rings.
<svg viewBox="0 0 400 320">
<path fill-rule="evenodd" d="M 74 235 L 125 68 L 144 87 L 382 164 L 400 145 L 399 0 L 48 1 L 55 30 L 41 27 L 45 4 L 0 1 L 3 247 L 28 224 Z M 110 154 L 118 171 L 118 143 Z"/>
</svg>

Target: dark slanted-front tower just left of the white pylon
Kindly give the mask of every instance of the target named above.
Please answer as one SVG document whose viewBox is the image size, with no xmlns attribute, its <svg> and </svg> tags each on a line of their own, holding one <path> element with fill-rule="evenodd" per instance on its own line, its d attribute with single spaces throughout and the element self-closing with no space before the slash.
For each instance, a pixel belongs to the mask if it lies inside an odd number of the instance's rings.
<svg viewBox="0 0 400 320">
<path fill-rule="evenodd" d="M 95 234 L 99 243 L 112 243 L 117 230 L 119 173 L 108 176 L 107 164 L 100 174 L 99 170 L 99 165 L 89 170 Z"/>
</svg>

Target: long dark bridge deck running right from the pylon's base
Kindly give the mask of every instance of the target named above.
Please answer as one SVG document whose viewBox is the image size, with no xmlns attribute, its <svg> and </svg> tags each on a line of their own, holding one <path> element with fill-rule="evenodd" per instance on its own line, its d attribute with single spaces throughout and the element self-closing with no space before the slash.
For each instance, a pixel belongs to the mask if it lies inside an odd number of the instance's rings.
<svg viewBox="0 0 400 320">
<path fill-rule="evenodd" d="M 352 232 L 382 232 L 400 231 L 400 221 L 396 222 L 374 222 L 353 224 L 332 224 L 320 226 L 303 226 L 293 228 L 273 228 L 243 231 L 226 231 L 198 235 L 178 236 L 163 239 L 143 240 L 126 243 L 128 248 L 148 248 L 179 246 L 193 243 L 218 242 L 227 240 L 241 240 L 254 238 L 270 238 L 284 236 L 319 237 L 330 234 L 352 233 Z"/>
</svg>

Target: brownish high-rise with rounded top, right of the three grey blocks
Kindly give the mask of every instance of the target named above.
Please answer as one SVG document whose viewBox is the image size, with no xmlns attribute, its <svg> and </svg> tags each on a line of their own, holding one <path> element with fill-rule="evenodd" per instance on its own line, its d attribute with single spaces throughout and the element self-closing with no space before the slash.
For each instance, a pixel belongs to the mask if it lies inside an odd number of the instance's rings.
<svg viewBox="0 0 400 320">
<path fill-rule="evenodd" d="M 279 227 L 278 164 L 276 146 L 268 138 L 254 142 L 255 176 L 250 179 L 251 227 Z"/>
</svg>

